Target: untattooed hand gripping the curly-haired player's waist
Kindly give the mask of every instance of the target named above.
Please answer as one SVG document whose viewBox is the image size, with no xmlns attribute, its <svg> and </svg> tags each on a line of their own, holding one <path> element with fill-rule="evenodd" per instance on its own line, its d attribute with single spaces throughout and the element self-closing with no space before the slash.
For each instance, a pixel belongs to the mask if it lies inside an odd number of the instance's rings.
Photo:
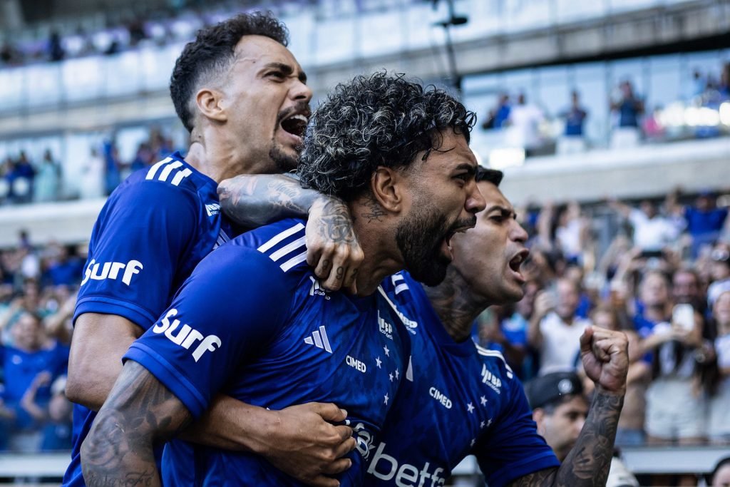
<svg viewBox="0 0 730 487">
<path fill-rule="evenodd" d="M 310 486 L 339 486 L 327 475 L 350 468 L 352 461 L 342 456 L 355 448 L 355 439 L 350 426 L 331 423 L 345 421 L 347 412 L 334 404 L 312 402 L 271 413 L 277 415 L 277 421 L 261 452 L 266 460 Z"/>
</svg>

